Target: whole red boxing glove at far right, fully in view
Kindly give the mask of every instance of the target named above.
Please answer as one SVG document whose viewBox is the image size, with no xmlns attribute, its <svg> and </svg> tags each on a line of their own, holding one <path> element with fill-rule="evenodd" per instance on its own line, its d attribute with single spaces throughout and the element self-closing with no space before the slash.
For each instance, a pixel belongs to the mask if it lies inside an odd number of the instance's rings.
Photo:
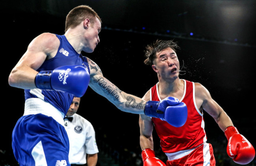
<svg viewBox="0 0 256 166">
<path fill-rule="evenodd" d="M 252 144 L 239 132 L 236 127 L 228 126 L 225 130 L 228 139 L 227 153 L 237 164 L 248 164 L 255 157 Z"/>
</svg>

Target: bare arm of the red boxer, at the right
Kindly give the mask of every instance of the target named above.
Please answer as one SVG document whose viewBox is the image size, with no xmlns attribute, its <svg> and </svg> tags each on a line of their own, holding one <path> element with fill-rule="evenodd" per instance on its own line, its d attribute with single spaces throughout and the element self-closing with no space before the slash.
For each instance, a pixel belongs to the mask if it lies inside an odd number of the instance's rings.
<svg viewBox="0 0 256 166">
<path fill-rule="evenodd" d="M 223 108 L 212 99 L 210 92 L 199 83 L 195 83 L 195 96 L 197 106 L 201 105 L 201 108 L 214 118 L 223 132 L 228 126 L 233 126 L 230 117 Z"/>
</svg>

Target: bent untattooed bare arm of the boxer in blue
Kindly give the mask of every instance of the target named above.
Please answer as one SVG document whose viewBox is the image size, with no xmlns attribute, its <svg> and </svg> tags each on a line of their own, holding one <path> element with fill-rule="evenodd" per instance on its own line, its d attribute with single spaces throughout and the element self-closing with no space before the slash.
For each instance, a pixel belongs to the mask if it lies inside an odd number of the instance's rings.
<svg viewBox="0 0 256 166">
<path fill-rule="evenodd" d="M 9 85 L 22 89 L 32 89 L 35 86 L 36 70 L 46 59 L 52 58 L 59 47 L 59 40 L 54 34 L 43 33 L 32 40 L 27 51 L 11 70 Z"/>
</svg>

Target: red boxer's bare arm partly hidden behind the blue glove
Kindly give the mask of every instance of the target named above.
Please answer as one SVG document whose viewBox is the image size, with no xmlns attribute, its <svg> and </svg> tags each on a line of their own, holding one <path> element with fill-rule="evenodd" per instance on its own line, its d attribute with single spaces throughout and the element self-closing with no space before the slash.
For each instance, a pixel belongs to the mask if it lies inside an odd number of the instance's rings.
<svg viewBox="0 0 256 166">
<path fill-rule="evenodd" d="M 142 97 L 145 101 L 150 100 L 150 92 L 148 91 L 144 97 Z M 154 149 L 154 142 L 152 137 L 153 132 L 153 123 L 150 117 L 146 115 L 139 115 L 139 128 L 140 128 L 140 137 L 139 143 L 141 146 L 141 150 L 145 148 Z"/>
</svg>

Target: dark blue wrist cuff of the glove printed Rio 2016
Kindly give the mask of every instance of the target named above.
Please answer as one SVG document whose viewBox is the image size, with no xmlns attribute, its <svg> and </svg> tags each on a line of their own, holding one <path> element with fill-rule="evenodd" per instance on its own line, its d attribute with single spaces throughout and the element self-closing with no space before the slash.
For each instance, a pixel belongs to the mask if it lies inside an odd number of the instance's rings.
<svg viewBox="0 0 256 166">
<path fill-rule="evenodd" d="M 41 71 L 35 76 L 35 86 L 42 90 L 53 90 L 51 86 L 52 71 Z"/>
</svg>

